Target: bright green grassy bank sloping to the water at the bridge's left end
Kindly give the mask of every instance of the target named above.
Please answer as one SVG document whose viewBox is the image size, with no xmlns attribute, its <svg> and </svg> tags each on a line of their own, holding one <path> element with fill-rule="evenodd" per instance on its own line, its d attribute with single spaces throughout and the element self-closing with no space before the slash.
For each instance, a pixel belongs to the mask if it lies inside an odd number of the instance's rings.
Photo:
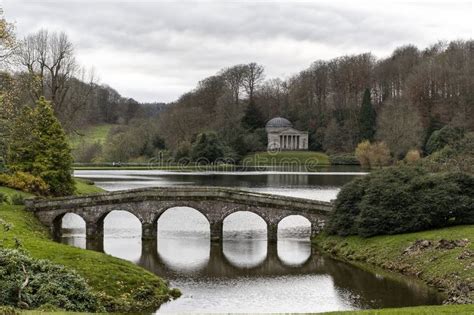
<svg viewBox="0 0 474 315">
<path fill-rule="evenodd" d="M 8 232 L 0 231 L 0 239 L 7 238 L 2 246 L 14 247 L 15 236 L 32 257 L 76 270 L 109 311 L 154 310 L 176 294 L 161 278 L 133 263 L 52 241 L 47 228 L 23 206 L 0 205 L 0 219 L 11 225 Z"/>
</svg>

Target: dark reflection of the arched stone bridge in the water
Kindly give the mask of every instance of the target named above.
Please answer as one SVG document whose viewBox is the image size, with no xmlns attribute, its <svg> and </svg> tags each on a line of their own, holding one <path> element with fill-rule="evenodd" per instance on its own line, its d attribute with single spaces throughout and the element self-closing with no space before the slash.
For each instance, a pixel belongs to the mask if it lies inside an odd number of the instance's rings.
<svg viewBox="0 0 474 315">
<path fill-rule="evenodd" d="M 117 239 L 117 241 L 120 240 Z M 167 251 L 166 248 L 161 249 L 160 245 L 166 245 L 166 243 L 173 240 L 166 239 L 164 241 L 161 244 L 155 240 L 139 241 L 136 239 L 135 243 L 127 243 L 126 252 L 135 252 L 136 249 L 131 248 L 131 246 L 140 246 L 141 243 L 140 257 L 130 260 L 160 275 L 192 273 L 196 276 L 235 277 L 242 274 L 264 276 L 314 273 L 314 267 L 320 264 L 320 260 L 323 259 L 318 255 L 313 255 L 314 249 L 307 241 L 292 241 L 292 244 L 290 244 L 289 247 L 300 247 L 297 249 L 300 252 L 297 260 L 291 255 L 285 257 L 284 252 L 288 252 L 288 246 L 285 248 L 286 241 L 274 243 L 258 240 L 247 240 L 247 242 L 238 240 L 211 243 L 205 239 L 202 240 L 203 242 L 189 239 L 186 242 L 191 246 L 181 247 L 178 251 L 175 247 L 177 244 L 174 243 L 168 244 L 172 246 L 173 251 Z M 108 242 L 108 240 L 106 239 L 105 242 Z M 104 250 L 104 243 L 99 242 L 88 241 L 87 249 L 108 253 L 107 250 Z M 193 249 L 194 252 L 190 253 L 189 249 Z M 281 254 L 279 254 L 279 249 L 282 250 Z M 291 253 L 291 250 L 289 252 Z M 303 257 L 301 252 L 305 253 Z M 173 253 L 178 257 L 171 256 Z M 124 255 L 124 251 L 109 254 L 131 258 Z M 245 256 L 247 256 L 247 259 Z"/>
</svg>

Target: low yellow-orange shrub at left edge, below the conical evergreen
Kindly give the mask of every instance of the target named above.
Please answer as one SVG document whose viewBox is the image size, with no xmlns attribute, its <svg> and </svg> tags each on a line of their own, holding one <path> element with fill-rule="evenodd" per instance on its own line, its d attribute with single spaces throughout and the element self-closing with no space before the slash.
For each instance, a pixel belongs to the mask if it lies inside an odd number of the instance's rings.
<svg viewBox="0 0 474 315">
<path fill-rule="evenodd" d="M 49 195 L 49 186 L 43 179 L 25 172 L 0 174 L 0 185 L 32 194 Z"/>
</svg>

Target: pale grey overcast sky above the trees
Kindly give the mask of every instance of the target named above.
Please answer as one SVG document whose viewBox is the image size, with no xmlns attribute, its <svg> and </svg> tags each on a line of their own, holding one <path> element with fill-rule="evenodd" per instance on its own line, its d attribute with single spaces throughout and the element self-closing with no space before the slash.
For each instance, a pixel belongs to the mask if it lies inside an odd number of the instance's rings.
<svg viewBox="0 0 474 315">
<path fill-rule="evenodd" d="M 19 37 L 65 31 L 100 83 L 169 102 L 224 67 L 287 78 L 318 59 L 473 38 L 472 1 L 3 0 Z"/>
</svg>

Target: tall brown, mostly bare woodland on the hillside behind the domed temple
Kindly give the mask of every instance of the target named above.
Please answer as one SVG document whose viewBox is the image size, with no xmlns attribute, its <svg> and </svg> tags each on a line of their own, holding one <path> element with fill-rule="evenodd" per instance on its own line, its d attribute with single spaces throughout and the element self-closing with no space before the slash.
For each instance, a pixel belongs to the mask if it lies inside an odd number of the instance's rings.
<svg viewBox="0 0 474 315">
<path fill-rule="evenodd" d="M 473 43 L 407 45 L 383 59 L 364 53 L 319 60 L 286 80 L 264 80 L 261 65 L 236 65 L 169 106 L 159 117 L 161 134 L 171 149 L 209 130 L 231 146 L 245 143 L 252 133 L 242 119 L 253 105 L 263 121 L 283 116 L 308 130 L 311 150 L 353 152 L 362 140 L 378 140 L 401 158 L 424 150 L 445 125 L 474 128 Z"/>
</svg>

